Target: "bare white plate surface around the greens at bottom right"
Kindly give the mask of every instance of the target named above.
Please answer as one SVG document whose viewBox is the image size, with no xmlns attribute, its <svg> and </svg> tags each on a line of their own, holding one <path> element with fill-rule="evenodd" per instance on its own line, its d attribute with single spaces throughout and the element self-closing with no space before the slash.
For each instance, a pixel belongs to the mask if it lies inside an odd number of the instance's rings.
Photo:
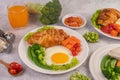
<svg viewBox="0 0 120 80">
<path fill-rule="evenodd" d="M 92 56 L 90 57 L 90 61 L 89 61 L 89 68 L 95 80 L 108 80 L 102 74 L 102 71 L 100 69 L 100 64 L 101 64 L 103 57 L 106 54 L 108 54 L 110 50 L 117 48 L 117 47 L 120 47 L 120 44 L 111 44 L 111 45 L 103 46 L 97 49 L 92 54 Z"/>
</svg>

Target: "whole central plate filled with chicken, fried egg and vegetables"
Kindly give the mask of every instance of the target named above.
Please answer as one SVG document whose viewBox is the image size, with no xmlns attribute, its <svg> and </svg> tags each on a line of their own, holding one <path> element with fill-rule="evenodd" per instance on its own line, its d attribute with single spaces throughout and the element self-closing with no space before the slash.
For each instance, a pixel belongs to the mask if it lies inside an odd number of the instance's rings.
<svg viewBox="0 0 120 80">
<path fill-rule="evenodd" d="M 87 58 L 88 46 L 82 36 L 76 36 L 76 32 L 70 34 L 69 31 L 71 29 L 43 26 L 27 33 L 19 45 L 21 59 L 32 69 L 37 67 L 43 71 L 35 70 L 49 74 L 57 74 L 57 71 L 64 73 L 79 67 Z M 21 51 L 22 46 L 25 52 Z"/>
</svg>

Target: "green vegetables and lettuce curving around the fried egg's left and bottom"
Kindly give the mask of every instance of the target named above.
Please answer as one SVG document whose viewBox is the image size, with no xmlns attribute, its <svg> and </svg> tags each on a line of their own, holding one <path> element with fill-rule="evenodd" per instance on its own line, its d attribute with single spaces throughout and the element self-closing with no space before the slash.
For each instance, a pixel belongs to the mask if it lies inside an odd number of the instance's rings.
<svg viewBox="0 0 120 80">
<path fill-rule="evenodd" d="M 33 44 L 28 47 L 28 57 L 34 62 L 37 66 L 48 69 L 48 70 L 67 70 L 79 63 L 79 60 L 75 57 L 72 58 L 71 62 L 63 65 L 48 65 L 45 61 L 45 48 L 40 46 L 39 44 Z"/>
</svg>

